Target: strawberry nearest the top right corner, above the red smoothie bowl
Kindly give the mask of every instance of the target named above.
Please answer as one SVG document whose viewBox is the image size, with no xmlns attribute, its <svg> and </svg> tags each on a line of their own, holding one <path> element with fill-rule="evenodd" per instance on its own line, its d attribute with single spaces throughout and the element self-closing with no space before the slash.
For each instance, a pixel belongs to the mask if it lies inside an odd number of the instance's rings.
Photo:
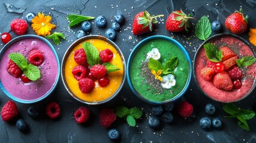
<svg viewBox="0 0 256 143">
<path fill-rule="evenodd" d="M 226 18 L 225 26 L 226 29 L 234 34 L 241 34 L 247 29 L 248 15 L 243 16 L 243 10 L 235 11 Z"/>
</svg>

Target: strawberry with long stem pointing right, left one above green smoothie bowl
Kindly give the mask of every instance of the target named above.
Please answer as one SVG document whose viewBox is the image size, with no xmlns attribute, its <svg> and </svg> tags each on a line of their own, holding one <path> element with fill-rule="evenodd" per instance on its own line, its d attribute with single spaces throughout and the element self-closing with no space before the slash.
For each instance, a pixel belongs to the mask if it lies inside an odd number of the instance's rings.
<svg viewBox="0 0 256 143">
<path fill-rule="evenodd" d="M 157 15 L 152 17 L 147 11 L 141 11 L 136 14 L 132 23 L 132 33 L 134 35 L 141 35 L 143 33 L 152 32 L 154 24 L 158 23 L 156 17 L 163 17 L 164 15 Z"/>
</svg>

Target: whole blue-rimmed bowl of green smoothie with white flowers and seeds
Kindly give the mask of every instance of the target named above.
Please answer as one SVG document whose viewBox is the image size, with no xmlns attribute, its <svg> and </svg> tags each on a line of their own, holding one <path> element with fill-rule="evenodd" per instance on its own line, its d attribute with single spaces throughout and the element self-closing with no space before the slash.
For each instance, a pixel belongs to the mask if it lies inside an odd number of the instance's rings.
<svg viewBox="0 0 256 143">
<path fill-rule="evenodd" d="M 150 104 L 180 98 L 189 87 L 192 64 L 186 49 L 167 36 L 150 36 L 132 50 L 127 80 L 135 95 Z"/>
</svg>

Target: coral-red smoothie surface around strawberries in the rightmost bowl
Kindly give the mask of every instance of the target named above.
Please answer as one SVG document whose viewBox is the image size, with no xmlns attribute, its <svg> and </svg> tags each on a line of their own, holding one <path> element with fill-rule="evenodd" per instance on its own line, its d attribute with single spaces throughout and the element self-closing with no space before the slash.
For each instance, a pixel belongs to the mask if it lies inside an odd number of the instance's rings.
<svg viewBox="0 0 256 143">
<path fill-rule="evenodd" d="M 247 55 L 254 56 L 253 52 L 248 47 L 248 45 L 246 45 L 237 38 L 224 36 L 221 38 L 214 39 L 213 41 L 211 41 L 211 43 L 214 43 L 214 45 L 217 46 L 217 48 L 220 48 L 221 46 L 229 46 L 230 49 L 232 49 L 233 52 L 235 52 L 238 55 L 239 59 Z M 198 82 L 198 85 L 200 86 L 202 91 L 206 95 L 208 95 L 208 97 L 220 102 L 235 102 L 246 97 L 246 94 L 248 92 L 251 92 L 252 89 L 254 89 L 252 85 L 254 85 L 255 81 L 256 63 L 248 67 L 243 67 L 245 74 L 243 74 L 242 87 L 240 89 L 233 89 L 232 91 L 223 91 L 221 89 L 216 88 L 213 85 L 212 81 L 205 80 L 200 76 L 200 71 L 201 69 L 203 69 L 203 67 L 205 67 L 206 60 L 207 57 L 205 55 L 205 49 L 202 47 L 200 51 L 198 51 L 198 55 L 195 60 L 195 75 L 196 82 Z"/>
</svg>

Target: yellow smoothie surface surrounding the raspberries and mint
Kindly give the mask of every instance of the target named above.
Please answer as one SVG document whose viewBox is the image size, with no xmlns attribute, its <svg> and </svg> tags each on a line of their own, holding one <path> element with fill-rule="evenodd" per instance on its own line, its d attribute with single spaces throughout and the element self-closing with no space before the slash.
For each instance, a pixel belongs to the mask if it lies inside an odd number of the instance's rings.
<svg viewBox="0 0 256 143">
<path fill-rule="evenodd" d="M 84 42 L 91 43 L 98 49 L 99 52 L 103 51 L 104 49 L 110 49 L 110 51 L 113 52 L 113 58 L 111 61 L 109 61 L 109 63 L 115 64 L 118 69 L 121 69 L 107 74 L 107 77 L 109 77 L 109 85 L 107 85 L 106 87 L 101 87 L 100 85 L 98 85 L 98 80 L 96 80 L 95 88 L 88 94 L 84 94 L 80 91 L 78 86 L 78 80 L 76 80 L 72 74 L 73 68 L 79 66 L 79 64 L 77 64 L 74 60 L 75 51 L 82 48 Z M 70 52 L 64 69 L 64 77 L 70 91 L 73 92 L 73 94 L 76 95 L 77 98 L 86 102 L 99 102 L 110 98 L 118 90 L 124 76 L 122 58 L 119 55 L 118 51 L 110 43 L 101 39 L 87 39 L 76 45 L 75 48 L 73 48 L 72 52 Z"/>
</svg>

